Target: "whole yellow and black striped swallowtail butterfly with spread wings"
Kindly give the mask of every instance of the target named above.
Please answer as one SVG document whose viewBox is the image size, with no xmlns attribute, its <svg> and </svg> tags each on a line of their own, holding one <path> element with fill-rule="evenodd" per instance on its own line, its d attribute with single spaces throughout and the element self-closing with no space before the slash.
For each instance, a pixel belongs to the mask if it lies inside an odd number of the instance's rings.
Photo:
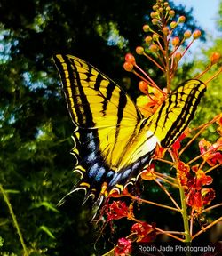
<svg viewBox="0 0 222 256">
<path fill-rule="evenodd" d="M 75 124 L 72 150 L 85 199 L 104 201 L 134 185 L 147 169 L 155 148 L 170 146 L 194 117 L 206 84 L 191 79 L 181 84 L 145 117 L 131 98 L 110 78 L 84 60 L 54 56 L 69 114 Z M 71 193 L 70 192 L 70 193 Z"/>
</svg>

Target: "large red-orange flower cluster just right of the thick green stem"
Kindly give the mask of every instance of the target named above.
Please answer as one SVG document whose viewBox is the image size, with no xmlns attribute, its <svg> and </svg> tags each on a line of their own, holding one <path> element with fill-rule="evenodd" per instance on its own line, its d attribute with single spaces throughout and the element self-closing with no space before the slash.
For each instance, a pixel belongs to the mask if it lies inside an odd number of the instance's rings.
<svg viewBox="0 0 222 256">
<path fill-rule="evenodd" d="M 215 197 L 215 191 L 212 188 L 202 188 L 212 183 L 210 175 L 206 175 L 197 165 L 192 167 L 192 171 L 190 172 L 189 166 L 183 162 L 178 164 L 178 176 L 185 188 L 186 204 L 198 212 L 202 206 L 210 204 Z"/>
</svg>

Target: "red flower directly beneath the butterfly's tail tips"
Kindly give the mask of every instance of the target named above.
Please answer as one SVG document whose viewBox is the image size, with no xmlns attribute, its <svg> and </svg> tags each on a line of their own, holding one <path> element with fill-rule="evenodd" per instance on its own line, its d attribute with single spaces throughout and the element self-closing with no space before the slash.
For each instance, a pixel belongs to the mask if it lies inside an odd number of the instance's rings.
<svg viewBox="0 0 222 256">
<path fill-rule="evenodd" d="M 128 207 L 125 202 L 114 201 L 112 204 L 107 205 L 107 221 L 133 216 L 132 210 L 132 207 Z"/>
</svg>

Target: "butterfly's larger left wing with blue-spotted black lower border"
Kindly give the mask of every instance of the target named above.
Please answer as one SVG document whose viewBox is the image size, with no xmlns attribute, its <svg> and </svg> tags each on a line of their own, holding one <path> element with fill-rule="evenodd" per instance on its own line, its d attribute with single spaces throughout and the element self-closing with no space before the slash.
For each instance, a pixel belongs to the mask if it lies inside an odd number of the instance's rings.
<svg viewBox="0 0 222 256">
<path fill-rule="evenodd" d="M 97 68 L 70 55 L 59 54 L 54 60 L 77 127 L 75 170 L 83 174 L 77 188 L 85 189 L 87 196 L 98 196 L 103 183 L 107 191 L 123 190 L 149 163 L 156 140 L 144 143 L 147 138 L 139 134 L 139 109 Z"/>
</svg>

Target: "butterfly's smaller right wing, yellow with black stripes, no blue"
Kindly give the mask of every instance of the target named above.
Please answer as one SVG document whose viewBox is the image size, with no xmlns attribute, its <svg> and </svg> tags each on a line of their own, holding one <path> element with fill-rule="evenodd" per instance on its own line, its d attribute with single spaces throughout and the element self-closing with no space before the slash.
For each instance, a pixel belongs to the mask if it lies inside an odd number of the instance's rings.
<svg viewBox="0 0 222 256">
<path fill-rule="evenodd" d="M 197 105 L 205 91 L 206 84 L 202 81 L 188 80 L 172 92 L 156 109 L 149 129 L 155 133 L 163 148 L 169 148 L 184 132 L 193 119 Z"/>
</svg>

